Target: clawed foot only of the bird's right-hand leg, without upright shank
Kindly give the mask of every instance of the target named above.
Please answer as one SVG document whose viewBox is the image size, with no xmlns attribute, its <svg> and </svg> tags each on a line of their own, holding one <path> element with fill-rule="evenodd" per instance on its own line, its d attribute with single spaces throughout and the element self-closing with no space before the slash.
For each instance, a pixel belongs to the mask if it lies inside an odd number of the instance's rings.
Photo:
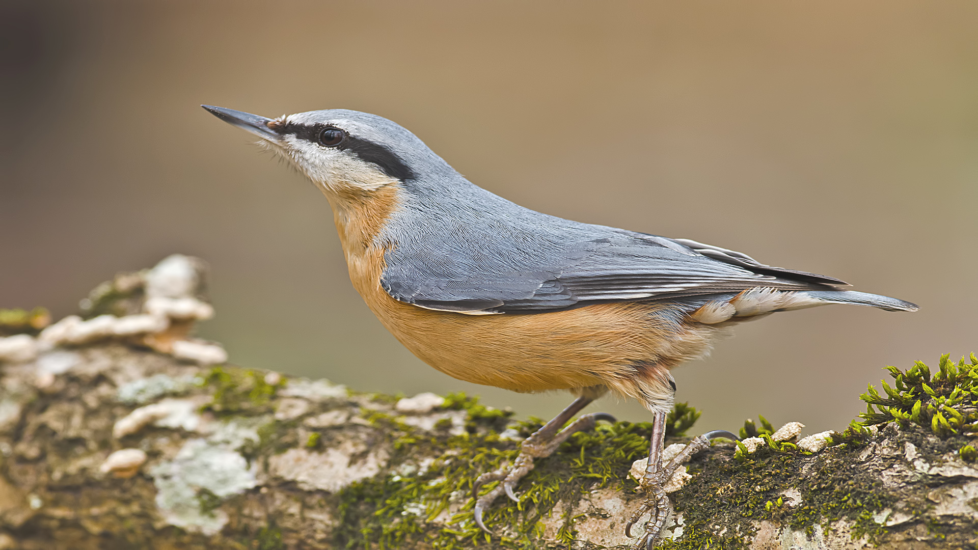
<svg viewBox="0 0 978 550">
<path fill-rule="evenodd" d="M 645 532 L 642 533 L 634 546 L 635 550 L 651 550 L 655 547 L 655 543 L 658 542 L 659 537 L 662 535 L 662 527 L 665 526 L 666 521 L 669 519 L 669 496 L 666 494 L 666 483 L 672 479 L 673 474 L 676 473 L 676 470 L 680 466 L 689 461 L 692 455 L 708 448 L 710 446 L 710 439 L 716 437 L 737 439 L 736 435 L 723 430 L 698 435 L 689 441 L 686 447 L 673 457 L 664 468 L 658 472 L 646 472 L 645 477 L 639 481 L 639 486 L 645 491 L 645 498 L 642 500 L 639 508 L 629 516 L 628 523 L 625 524 L 625 536 L 631 537 L 632 527 L 645 514 L 650 515 L 648 521 L 645 522 L 645 526 L 643 526 Z"/>
</svg>

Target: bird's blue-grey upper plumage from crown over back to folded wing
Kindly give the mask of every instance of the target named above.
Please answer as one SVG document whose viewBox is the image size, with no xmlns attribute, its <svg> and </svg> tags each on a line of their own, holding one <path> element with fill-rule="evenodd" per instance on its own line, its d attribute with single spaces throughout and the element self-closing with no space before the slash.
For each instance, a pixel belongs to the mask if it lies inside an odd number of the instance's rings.
<svg viewBox="0 0 978 550">
<path fill-rule="evenodd" d="M 401 204 L 377 239 L 387 251 L 381 285 L 401 301 L 534 312 L 600 301 L 689 301 L 755 287 L 835 291 L 833 285 L 844 284 L 740 252 L 515 205 L 472 184 L 413 133 L 377 115 L 330 110 L 287 121 L 285 131 L 310 141 L 322 128 L 343 128 L 349 139 L 340 149 L 399 180 Z"/>
</svg>

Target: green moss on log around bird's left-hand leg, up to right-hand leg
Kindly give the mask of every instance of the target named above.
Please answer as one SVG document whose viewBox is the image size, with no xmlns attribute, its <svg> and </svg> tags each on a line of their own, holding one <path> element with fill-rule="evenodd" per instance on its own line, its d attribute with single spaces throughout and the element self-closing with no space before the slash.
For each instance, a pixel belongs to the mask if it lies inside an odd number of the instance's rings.
<svg viewBox="0 0 978 550">
<path fill-rule="evenodd" d="M 518 453 L 517 445 L 502 440 L 493 428 L 498 419 L 508 418 L 511 412 L 482 407 L 475 398 L 459 394 L 447 404 L 449 408 L 467 410 L 468 422 L 477 430 L 455 436 L 415 436 L 415 443 L 402 452 L 424 456 L 436 454 L 434 449 L 439 449 L 439 458 L 427 471 L 416 477 L 388 475 L 359 481 L 343 489 L 338 522 L 341 527 L 336 534 L 340 547 L 398 548 L 408 541 L 424 539 L 432 548 L 446 550 L 473 544 L 536 548 L 534 541 L 542 535 L 542 520 L 551 515 L 558 501 L 576 500 L 600 486 L 635 486 L 634 482 L 623 480 L 621 474 L 645 455 L 651 432 L 647 423 L 618 423 L 572 435 L 554 456 L 539 460 L 537 467 L 520 481 L 519 504 L 500 498 L 485 514 L 488 527 L 498 533 L 512 531 L 507 536 L 490 537 L 473 521 L 472 482 L 480 474 L 511 462 Z M 689 418 L 686 412 L 678 418 Z M 374 419 L 389 421 L 382 416 Z M 496 485 L 497 482 L 486 484 L 480 492 L 485 494 Z M 434 533 L 425 530 L 427 520 L 453 506 L 459 508 L 448 522 L 450 527 Z M 562 517 L 557 532 L 561 540 L 573 540 L 576 519 L 569 510 Z"/>
</svg>

